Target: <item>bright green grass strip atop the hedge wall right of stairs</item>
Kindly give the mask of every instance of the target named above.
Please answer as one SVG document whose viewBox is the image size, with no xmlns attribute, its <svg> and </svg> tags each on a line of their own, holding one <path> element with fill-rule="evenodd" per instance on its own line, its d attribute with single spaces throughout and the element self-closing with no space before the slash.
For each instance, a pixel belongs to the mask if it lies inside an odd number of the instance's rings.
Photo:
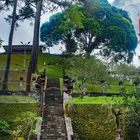
<svg viewBox="0 0 140 140">
<path fill-rule="evenodd" d="M 66 104 L 120 104 L 123 103 L 122 97 L 78 97 L 74 98 Z"/>
</svg>

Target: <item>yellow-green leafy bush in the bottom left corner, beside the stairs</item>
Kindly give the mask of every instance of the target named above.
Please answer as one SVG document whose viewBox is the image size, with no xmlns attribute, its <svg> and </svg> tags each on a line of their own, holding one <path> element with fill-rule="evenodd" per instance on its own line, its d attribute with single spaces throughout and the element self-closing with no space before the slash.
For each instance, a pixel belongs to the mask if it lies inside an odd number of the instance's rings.
<svg viewBox="0 0 140 140">
<path fill-rule="evenodd" d="M 32 112 L 25 112 L 16 116 L 11 122 L 0 120 L 1 133 L 7 133 L 13 137 L 13 140 L 17 140 L 18 137 L 29 139 L 30 133 L 33 129 L 33 125 L 37 120 L 37 115 Z"/>
</svg>

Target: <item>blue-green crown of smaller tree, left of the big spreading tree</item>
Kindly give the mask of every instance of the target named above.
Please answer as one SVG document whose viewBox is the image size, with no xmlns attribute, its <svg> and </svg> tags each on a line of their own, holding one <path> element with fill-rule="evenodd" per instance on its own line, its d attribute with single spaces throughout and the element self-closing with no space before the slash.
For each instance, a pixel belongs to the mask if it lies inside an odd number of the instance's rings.
<svg viewBox="0 0 140 140">
<path fill-rule="evenodd" d="M 77 44 L 70 32 L 74 23 L 70 22 L 69 16 L 64 13 L 51 16 L 49 22 L 42 25 L 40 38 L 49 47 L 57 45 L 61 41 L 66 46 L 66 53 L 72 54 L 77 50 Z"/>
</svg>

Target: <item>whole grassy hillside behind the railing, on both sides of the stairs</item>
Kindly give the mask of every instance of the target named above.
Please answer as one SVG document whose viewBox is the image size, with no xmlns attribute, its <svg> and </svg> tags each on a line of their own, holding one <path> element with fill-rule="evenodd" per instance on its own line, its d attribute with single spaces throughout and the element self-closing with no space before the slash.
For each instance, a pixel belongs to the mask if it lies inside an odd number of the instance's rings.
<svg viewBox="0 0 140 140">
<path fill-rule="evenodd" d="M 9 90 L 18 91 L 19 90 L 19 79 L 23 77 L 24 83 L 23 87 L 25 89 L 26 86 L 26 75 L 27 75 L 27 66 L 30 60 L 30 54 L 26 55 L 26 71 L 23 71 L 23 54 L 12 54 L 12 61 L 10 67 L 10 74 L 9 74 Z M 44 62 L 46 65 L 44 65 Z M 43 72 L 44 68 L 46 68 L 47 76 L 51 78 L 62 78 L 62 63 L 63 58 L 59 55 L 49 55 L 49 54 L 40 54 L 38 59 L 38 71 L 39 74 Z M 6 64 L 6 54 L 0 54 L 0 80 L 3 79 L 4 69 Z M 69 72 L 70 73 L 70 70 Z M 80 83 L 80 81 L 79 81 Z M 81 93 L 79 89 L 79 83 L 76 83 L 76 93 Z M 112 85 L 111 85 L 112 84 Z M 105 85 L 105 92 L 106 93 L 119 93 L 120 86 L 116 81 L 112 81 L 110 85 Z M 1 88 L 1 84 L 0 84 Z M 86 84 L 87 92 L 101 92 L 101 84 Z M 135 86 L 130 86 L 129 83 L 124 86 L 126 93 L 135 92 Z"/>
</svg>

